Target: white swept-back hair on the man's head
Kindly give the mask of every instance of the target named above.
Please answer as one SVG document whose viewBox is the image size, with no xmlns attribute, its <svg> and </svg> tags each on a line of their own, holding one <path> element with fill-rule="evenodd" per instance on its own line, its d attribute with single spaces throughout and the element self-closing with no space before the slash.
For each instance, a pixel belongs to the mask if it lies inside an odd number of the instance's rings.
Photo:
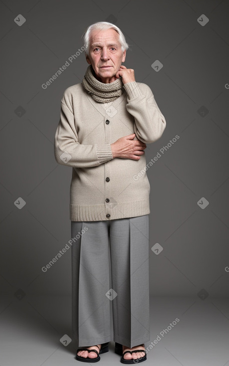
<svg viewBox="0 0 229 366">
<path fill-rule="evenodd" d="M 125 49 L 127 50 L 129 48 L 129 45 L 126 42 L 123 32 L 116 25 L 114 25 L 112 23 L 108 23 L 107 21 L 98 21 L 97 23 L 89 25 L 82 35 L 82 40 L 83 40 L 83 44 L 85 47 L 85 53 L 87 55 L 89 53 L 90 34 L 91 34 L 91 31 L 94 29 L 97 29 L 97 30 L 115 29 L 116 32 L 119 34 L 119 42 L 121 44 L 122 51 L 124 51 Z"/>
</svg>

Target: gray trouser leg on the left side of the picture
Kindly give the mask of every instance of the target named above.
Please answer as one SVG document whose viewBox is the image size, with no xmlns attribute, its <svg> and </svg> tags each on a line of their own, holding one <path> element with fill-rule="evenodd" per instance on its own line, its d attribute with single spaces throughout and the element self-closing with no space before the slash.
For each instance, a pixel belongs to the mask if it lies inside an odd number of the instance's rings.
<svg viewBox="0 0 229 366">
<path fill-rule="evenodd" d="M 71 221 L 72 238 L 77 234 L 72 244 L 72 332 L 78 347 L 94 346 L 111 340 L 105 295 L 110 288 L 107 222 Z"/>
</svg>

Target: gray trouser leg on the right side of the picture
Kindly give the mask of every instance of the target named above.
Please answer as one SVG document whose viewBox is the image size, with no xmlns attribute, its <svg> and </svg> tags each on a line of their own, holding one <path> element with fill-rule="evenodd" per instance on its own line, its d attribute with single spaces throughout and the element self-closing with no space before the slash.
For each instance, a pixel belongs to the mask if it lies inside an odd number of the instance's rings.
<svg viewBox="0 0 229 366">
<path fill-rule="evenodd" d="M 149 216 L 110 221 L 114 342 L 132 348 L 150 341 Z"/>
</svg>

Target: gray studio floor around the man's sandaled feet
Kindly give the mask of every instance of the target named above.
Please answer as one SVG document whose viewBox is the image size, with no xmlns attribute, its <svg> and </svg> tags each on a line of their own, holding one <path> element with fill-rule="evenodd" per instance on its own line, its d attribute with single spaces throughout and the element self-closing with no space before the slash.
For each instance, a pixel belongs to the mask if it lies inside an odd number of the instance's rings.
<svg viewBox="0 0 229 366">
<path fill-rule="evenodd" d="M 150 309 L 142 365 L 229 366 L 229 299 L 151 297 Z M 114 345 L 97 365 L 121 364 Z M 82 365 L 76 349 L 70 296 L 1 296 L 0 366 Z"/>
</svg>

